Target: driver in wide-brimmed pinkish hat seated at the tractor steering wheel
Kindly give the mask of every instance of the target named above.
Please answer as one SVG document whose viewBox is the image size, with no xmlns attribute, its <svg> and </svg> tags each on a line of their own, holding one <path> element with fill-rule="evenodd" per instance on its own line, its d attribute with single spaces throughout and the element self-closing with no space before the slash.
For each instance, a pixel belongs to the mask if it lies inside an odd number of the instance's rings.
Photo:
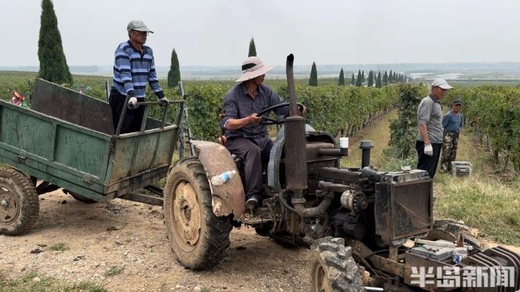
<svg viewBox="0 0 520 292">
<path fill-rule="evenodd" d="M 266 125 L 261 125 L 257 116 L 262 109 L 283 102 L 270 87 L 263 85 L 266 73 L 273 67 L 264 66 L 259 57 L 248 57 L 242 63 L 242 75 L 223 102 L 223 118 L 220 138 L 230 152 L 245 163 L 245 204 L 256 208 L 261 203 L 262 162 L 269 161 L 272 140 L 267 135 Z M 288 116 L 289 108 L 275 109 L 277 115 Z"/>
</svg>

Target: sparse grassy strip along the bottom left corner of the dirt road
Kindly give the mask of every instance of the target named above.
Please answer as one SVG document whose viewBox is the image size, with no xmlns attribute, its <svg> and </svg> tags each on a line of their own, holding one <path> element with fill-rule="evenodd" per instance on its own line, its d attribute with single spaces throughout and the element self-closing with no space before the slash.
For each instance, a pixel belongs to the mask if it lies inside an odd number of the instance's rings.
<svg viewBox="0 0 520 292">
<path fill-rule="evenodd" d="M 21 277 L 7 280 L 5 273 L 0 272 L 0 291 L 2 292 L 107 292 L 102 285 L 83 281 L 78 284 L 56 280 L 53 277 L 39 275 L 33 271 Z"/>
</svg>

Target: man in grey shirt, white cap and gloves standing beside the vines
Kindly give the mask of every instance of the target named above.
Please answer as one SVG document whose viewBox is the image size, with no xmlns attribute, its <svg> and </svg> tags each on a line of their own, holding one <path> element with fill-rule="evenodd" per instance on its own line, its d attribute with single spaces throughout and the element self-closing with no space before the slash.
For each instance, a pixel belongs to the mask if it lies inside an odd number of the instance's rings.
<svg viewBox="0 0 520 292">
<path fill-rule="evenodd" d="M 439 163 L 444 132 L 440 100 L 452 88 L 444 79 L 433 80 L 430 94 L 417 107 L 417 169 L 426 170 L 432 179 Z"/>
</svg>

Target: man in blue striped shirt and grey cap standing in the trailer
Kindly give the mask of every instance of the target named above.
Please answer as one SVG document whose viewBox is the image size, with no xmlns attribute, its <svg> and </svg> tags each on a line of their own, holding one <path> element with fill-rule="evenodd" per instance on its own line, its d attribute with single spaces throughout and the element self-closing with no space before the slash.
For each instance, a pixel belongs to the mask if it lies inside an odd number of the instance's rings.
<svg viewBox="0 0 520 292">
<path fill-rule="evenodd" d="M 108 103 L 112 108 L 114 129 L 117 128 L 123 107 L 128 106 L 125 113 L 121 134 L 139 131 L 144 116 L 144 107 L 138 107 L 137 102 L 144 102 L 146 83 L 159 98 L 159 102 L 166 106 L 168 99 L 162 91 L 157 73 L 155 73 L 155 61 L 153 51 L 145 46 L 149 30 L 146 24 L 140 20 L 132 20 L 126 27 L 128 41 L 117 46 L 114 61 L 114 79 Z M 126 96 L 130 96 L 128 104 L 125 104 Z"/>
</svg>

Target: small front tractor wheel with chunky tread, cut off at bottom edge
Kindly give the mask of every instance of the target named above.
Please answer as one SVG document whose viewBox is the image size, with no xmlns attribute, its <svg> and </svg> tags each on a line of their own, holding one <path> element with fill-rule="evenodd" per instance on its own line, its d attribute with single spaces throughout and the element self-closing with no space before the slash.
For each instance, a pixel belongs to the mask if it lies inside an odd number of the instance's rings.
<svg viewBox="0 0 520 292">
<path fill-rule="evenodd" d="M 325 237 L 311 247 L 312 292 L 365 291 L 352 248 L 345 239 Z"/>
</svg>

